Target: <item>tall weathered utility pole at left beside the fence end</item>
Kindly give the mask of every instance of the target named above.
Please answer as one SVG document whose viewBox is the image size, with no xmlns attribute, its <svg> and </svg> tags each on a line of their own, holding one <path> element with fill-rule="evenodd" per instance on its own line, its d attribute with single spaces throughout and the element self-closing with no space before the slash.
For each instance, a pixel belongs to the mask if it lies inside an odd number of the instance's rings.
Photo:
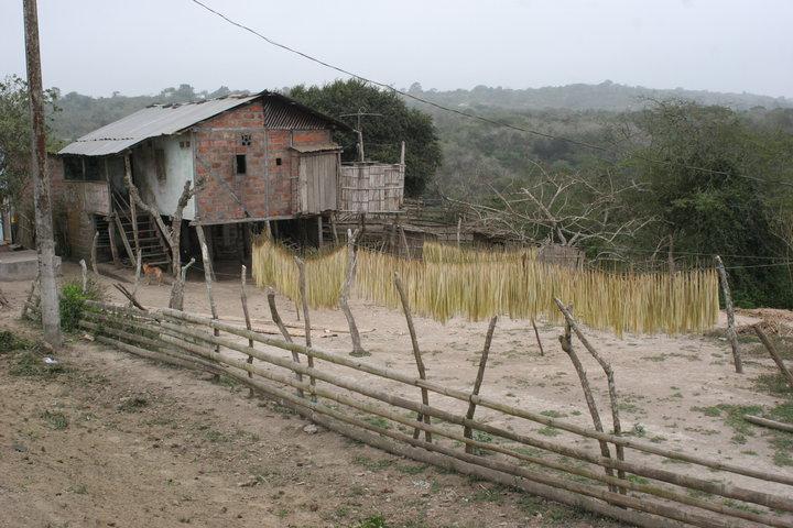
<svg viewBox="0 0 793 528">
<path fill-rule="evenodd" d="M 44 95 L 39 52 L 39 13 L 36 0 L 23 0 L 25 26 L 25 58 L 28 61 L 28 91 L 30 94 L 33 134 L 31 138 L 31 179 L 35 208 L 36 252 L 42 327 L 44 341 L 53 349 L 61 348 L 61 315 L 55 280 L 55 241 L 53 239 L 50 175 L 46 169 L 46 134 L 44 130 Z"/>
</svg>

